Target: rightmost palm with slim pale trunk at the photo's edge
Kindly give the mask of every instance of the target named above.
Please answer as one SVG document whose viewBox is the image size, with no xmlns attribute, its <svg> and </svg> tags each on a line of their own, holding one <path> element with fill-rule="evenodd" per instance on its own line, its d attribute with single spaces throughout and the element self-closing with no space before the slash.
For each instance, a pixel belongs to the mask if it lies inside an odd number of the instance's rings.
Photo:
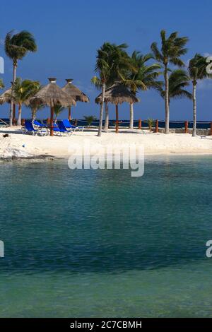
<svg viewBox="0 0 212 332">
<path fill-rule="evenodd" d="M 193 84 L 193 137 L 196 136 L 196 85 L 198 80 L 211 77 L 206 71 L 207 66 L 206 58 L 201 54 L 195 54 L 194 58 L 189 61 L 189 76 Z"/>
</svg>

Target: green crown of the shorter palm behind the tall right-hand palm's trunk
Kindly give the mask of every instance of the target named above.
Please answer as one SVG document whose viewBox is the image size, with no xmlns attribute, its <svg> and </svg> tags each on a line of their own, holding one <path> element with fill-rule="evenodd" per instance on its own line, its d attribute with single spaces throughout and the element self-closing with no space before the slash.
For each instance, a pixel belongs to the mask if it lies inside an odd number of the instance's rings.
<svg viewBox="0 0 212 332">
<path fill-rule="evenodd" d="M 190 78 L 186 71 L 183 69 L 176 69 L 172 71 L 169 77 L 169 105 L 171 99 L 187 97 L 192 99 L 192 93 L 184 88 L 189 86 Z M 163 99 L 165 98 L 165 83 L 158 86 L 158 92 Z"/>
</svg>

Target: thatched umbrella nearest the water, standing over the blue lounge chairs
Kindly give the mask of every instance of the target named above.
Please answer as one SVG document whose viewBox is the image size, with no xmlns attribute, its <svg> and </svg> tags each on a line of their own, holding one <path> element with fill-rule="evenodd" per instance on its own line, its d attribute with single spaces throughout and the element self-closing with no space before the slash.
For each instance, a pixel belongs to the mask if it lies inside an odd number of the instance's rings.
<svg viewBox="0 0 212 332">
<path fill-rule="evenodd" d="M 61 105 L 62 107 L 69 107 L 70 105 L 76 105 L 75 100 L 67 95 L 56 84 L 56 78 L 49 78 L 49 83 L 45 85 L 34 97 L 30 99 L 34 105 L 46 105 L 51 109 L 50 116 L 50 135 L 54 135 L 54 106 Z"/>
</svg>

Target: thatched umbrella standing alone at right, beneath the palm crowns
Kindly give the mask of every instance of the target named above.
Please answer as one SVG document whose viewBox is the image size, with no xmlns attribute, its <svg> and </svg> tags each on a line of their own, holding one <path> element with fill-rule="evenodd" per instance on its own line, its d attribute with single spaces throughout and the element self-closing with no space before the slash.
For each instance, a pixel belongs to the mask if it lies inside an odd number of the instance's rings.
<svg viewBox="0 0 212 332">
<path fill-rule="evenodd" d="M 95 98 L 95 102 L 100 104 L 102 102 L 102 94 L 98 95 Z M 110 88 L 105 90 L 105 102 L 111 102 L 116 105 L 116 133 L 119 132 L 119 109 L 118 105 L 123 102 L 129 102 L 134 104 L 134 102 L 139 102 L 139 98 L 137 98 L 134 93 L 126 88 L 125 85 L 121 83 L 114 83 Z"/>
</svg>

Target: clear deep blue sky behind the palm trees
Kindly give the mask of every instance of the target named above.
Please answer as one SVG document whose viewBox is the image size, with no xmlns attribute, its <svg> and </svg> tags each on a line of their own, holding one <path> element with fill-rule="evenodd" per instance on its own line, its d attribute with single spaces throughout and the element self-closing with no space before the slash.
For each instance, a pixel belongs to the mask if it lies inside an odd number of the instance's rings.
<svg viewBox="0 0 212 332">
<path fill-rule="evenodd" d="M 78 103 L 73 108 L 73 117 L 84 114 L 98 116 L 99 107 L 94 99 L 98 91 L 90 84 L 94 75 L 96 49 L 103 42 L 129 45 L 147 53 L 151 43 L 160 42 L 160 30 L 167 33 L 175 30 L 179 35 L 189 37 L 189 52 L 184 61 L 189 61 L 196 52 L 212 54 L 212 2 L 200 1 L 141 1 L 141 0 L 37 0 L 5 1 L 0 4 L 0 56 L 4 55 L 6 32 L 15 29 L 29 30 L 35 35 L 38 51 L 28 54 L 18 63 L 18 76 L 47 83 L 49 76 L 57 77 L 57 83 L 64 85 L 65 78 L 73 78 L 90 97 L 89 104 Z M 11 60 L 5 57 L 4 78 L 6 86 L 12 77 Z M 197 91 L 198 119 L 212 120 L 212 80 L 199 83 Z M 164 119 L 164 103 L 155 91 L 139 93 L 141 102 L 135 105 L 135 119 L 148 117 Z M 48 110 L 38 113 L 46 117 Z M 129 119 L 129 105 L 122 105 L 119 111 L 122 119 Z M 0 107 L 0 116 L 8 116 L 8 105 Z M 23 117 L 28 117 L 23 110 Z M 65 114 L 64 114 L 65 116 Z M 114 105 L 110 105 L 110 118 L 114 118 Z M 176 100 L 171 102 L 170 119 L 192 119 L 192 102 Z"/>
</svg>

